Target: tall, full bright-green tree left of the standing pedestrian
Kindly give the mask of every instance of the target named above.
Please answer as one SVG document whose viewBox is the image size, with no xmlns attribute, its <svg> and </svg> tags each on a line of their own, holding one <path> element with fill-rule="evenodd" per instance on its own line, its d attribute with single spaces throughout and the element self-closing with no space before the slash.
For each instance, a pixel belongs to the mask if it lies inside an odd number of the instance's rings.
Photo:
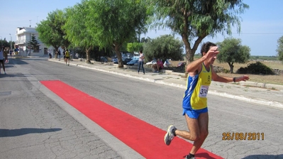
<svg viewBox="0 0 283 159">
<path fill-rule="evenodd" d="M 147 4 L 141 0 L 89 0 L 86 1 L 87 29 L 99 42 L 99 47 L 111 46 L 123 67 L 121 46 L 140 33 L 145 33 L 148 19 Z"/>
</svg>

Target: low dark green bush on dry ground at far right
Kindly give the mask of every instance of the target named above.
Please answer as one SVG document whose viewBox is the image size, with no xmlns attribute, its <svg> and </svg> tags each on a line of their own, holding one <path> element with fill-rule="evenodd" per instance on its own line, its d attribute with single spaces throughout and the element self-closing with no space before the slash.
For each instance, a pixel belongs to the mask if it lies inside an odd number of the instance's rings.
<svg viewBox="0 0 283 159">
<path fill-rule="evenodd" d="M 254 74 L 254 75 L 274 75 L 274 72 L 270 67 L 262 62 L 255 62 L 248 65 L 248 67 L 240 67 L 238 74 Z"/>
</svg>

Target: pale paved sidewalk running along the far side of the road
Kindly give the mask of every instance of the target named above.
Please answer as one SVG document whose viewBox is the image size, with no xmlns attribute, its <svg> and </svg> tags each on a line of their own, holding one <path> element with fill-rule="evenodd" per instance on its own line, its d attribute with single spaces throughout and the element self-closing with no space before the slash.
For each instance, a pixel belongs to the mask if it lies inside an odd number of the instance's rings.
<svg viewBox="0 0 283 159">
<path fill-rule="evenodd" d="M 65 65 L 65 62 L 62 59 L 60 61 L 57 59 L 55 60 L 54 58 L 49 60 L 52 62 L 60 62 L 62 65 Z M 155 73 L 152 72 L 150 68 L 145 67 L 145 75 L 143 75 L 142 72 L 138 74 L 137 67 L 135 66 L 124 65 L 123 68 L 118 68 L 118 65 L 112 65 L 112 62 L 104 64 L 101 62 L 94 62 L 94 64 L 87 64 L 76 59 L 70 61 L 70 66 L 85 67 L 92 70 L 99 70 L 102 72 L 108 72 L 183 89 L 186 89 L 187 84 L 187 79 L 182 77 L 184 73 L 177 73 L 169 70 L 164 70 L 165 72 L 163 73 Z M 263 104 L 267 106 L 283 108 L 283 85 L 263 84 L 257 82 L 238 82 L 236 84 L 212 82 L 209 87 L 209 94 L 243 100 L 245 102 L 251 102 L 254 104 Z"/>
</svg>

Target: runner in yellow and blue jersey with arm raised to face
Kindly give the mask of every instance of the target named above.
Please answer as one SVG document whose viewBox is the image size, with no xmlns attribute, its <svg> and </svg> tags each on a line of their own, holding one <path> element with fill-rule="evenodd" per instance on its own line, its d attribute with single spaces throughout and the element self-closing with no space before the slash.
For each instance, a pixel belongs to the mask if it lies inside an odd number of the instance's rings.
<svg viewBox="0 0 283 159">
<path fill-rule="evenodd" d="M 194 159 L 194 155 L 201 147 L 209 134 L 209 113 L 207 109 L 206 95 L 209 91 L 211 80 L 217 82 L 240 82 L 249 79 L 248 76 L 241 77 L 221 77 L 213 70 L 213 62 L 219 51 L 214 43 L 207 42 L 201 46 L 202 57 L 187 65 L 186 71 L 187 90 L 184 92 L 183 116 L 187 121 L 189 131 L 182 131 L 170 125 L 167 128 L 164 141 L 170 145 L 174 136 L 180 136 L 189 141 L 194 141 L 194 145 L 186 158 Z"/>
</svg>

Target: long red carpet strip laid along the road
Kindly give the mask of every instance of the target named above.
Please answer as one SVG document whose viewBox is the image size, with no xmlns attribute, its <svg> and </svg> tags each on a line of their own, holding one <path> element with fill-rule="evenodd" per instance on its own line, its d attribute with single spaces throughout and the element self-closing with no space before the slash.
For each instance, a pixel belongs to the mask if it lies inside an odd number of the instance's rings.
<svg viewBox="0 0 283 159">
<path fill-rule="evenodd" d="M 192 144 L 182 138 L 174 138 L 170 146 L 166 146 L 163 141 L 165 131 L 101 102 L 64 82 L 41 81 L 41 83 L 145 158 L 184 158 L 192 148 Z M 196 153 L 196 158 L 221 157 L 200 149 Z"/>
</svg>

